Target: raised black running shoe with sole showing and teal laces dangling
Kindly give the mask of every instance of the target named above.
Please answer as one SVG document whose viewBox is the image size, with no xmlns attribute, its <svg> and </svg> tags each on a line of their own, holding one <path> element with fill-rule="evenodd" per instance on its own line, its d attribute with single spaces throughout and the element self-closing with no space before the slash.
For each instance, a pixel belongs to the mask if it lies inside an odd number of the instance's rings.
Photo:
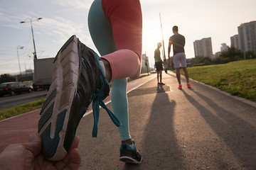
<svg viewBox="0 0 256 170">
<path fill-rule="evenodd" d="M 120 125 L 103 102 L 109 95 L 110 85 L 102 74 L 99 60 L 100 57 L 75 35 L 65 42 L 56 55 L 52 84 L 38 122 L 43 154 L 47 159 L 58 161 L 65 157 L 78 123 L 92 101 L 95 119 L 92 137 L 97 137 L 100 106 L 105 108 L 115 125 Z"/>
</svg>

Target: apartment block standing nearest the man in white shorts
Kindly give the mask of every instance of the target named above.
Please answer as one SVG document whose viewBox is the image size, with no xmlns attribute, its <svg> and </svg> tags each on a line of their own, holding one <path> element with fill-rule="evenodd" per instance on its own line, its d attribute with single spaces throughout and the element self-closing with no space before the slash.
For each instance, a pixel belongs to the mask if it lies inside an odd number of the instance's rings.
<svg viewBox="0 0 256 170">
<path fill-rule="evenodd" d="M 193 42 L 195 57 L 209 57 L 213 59 L 213 47 L 211 38 L 203 38 Z"/>
</svg>

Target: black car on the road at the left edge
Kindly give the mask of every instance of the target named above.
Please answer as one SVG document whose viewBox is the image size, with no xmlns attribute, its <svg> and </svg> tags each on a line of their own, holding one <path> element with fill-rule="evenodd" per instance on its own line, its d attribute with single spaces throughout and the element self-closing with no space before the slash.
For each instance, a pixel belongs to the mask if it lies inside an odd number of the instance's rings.
<svg viewBox="0 0 256 170">
<path fill-rule="evenodd" d="M 30 93 L 31 91 L 31 87 L 26 86 L 26 84 L 21 82 L 8 82 L 0 84 L 0 96 L 5 94 L 14 96 L 14 94 L 21 94 L 23 92 Z"/>
</svg>

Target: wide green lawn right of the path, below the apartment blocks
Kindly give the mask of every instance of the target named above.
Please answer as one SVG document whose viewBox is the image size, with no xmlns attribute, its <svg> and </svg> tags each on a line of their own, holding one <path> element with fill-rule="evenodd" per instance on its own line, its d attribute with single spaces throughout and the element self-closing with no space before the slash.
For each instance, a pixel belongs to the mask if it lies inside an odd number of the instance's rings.
<svg viewBox="0 0 256 170">
<path fill-rule="evenodd" d="M 182 71 L 181 71 L 182 72 Z M 183 72 L 182 72 L 183 73 Z M 256 60 L 188 68 L 191 79 L 256 102 Z"/>
</svg>

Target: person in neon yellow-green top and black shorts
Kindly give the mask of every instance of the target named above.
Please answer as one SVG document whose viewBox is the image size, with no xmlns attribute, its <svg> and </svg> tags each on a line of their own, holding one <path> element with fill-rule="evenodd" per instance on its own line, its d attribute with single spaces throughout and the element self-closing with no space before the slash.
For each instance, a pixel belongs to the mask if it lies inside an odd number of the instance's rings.
<svg viewBox="0 0 256 170">
<path fill-rule="evenodd" d="M 161 42 L 158 42 L 157 48 L 154 52 L 154 59 L 155 59 L 156 72 L 157 72 L 157 84 L 164 85 L 164 83 L 161 81 L 164 62 L 163 62 L 163 60 L 161 60 L 160 48 L 161 48 Z M 159 79 L 160 79 L 160 81 L 159 81 Z"/>
</svg>

